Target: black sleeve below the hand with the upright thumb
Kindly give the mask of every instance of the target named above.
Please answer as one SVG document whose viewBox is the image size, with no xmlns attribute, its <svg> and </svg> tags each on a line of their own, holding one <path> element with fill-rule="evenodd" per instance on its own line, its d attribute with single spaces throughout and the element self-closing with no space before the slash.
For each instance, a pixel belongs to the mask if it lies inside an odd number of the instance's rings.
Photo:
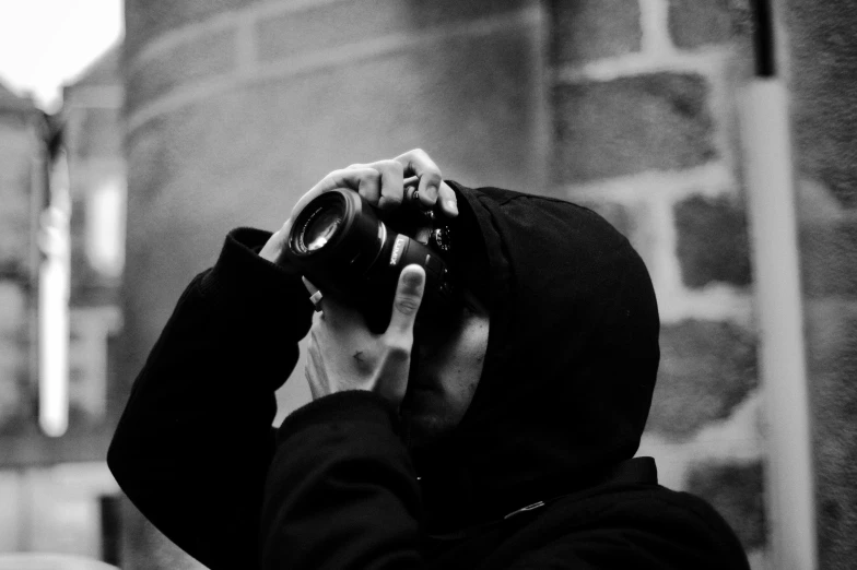
<svg viewBox="0 0 857 570">
<path fill-rule="evenodd" d="M 422 568 L 420 489 L 376 394 L 307 404 L 278 434 L 259 535 L 262 568 Z"/>
</svg>

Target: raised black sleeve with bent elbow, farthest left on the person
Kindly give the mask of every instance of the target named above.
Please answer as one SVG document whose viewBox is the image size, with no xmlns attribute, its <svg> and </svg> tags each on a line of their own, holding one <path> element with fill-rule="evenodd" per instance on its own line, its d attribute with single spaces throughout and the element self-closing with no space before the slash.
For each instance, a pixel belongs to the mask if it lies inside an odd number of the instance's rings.
<svg viewBox="0 0 857 570">
<path fill-rule="evenodd" d="M 131 501 L 209 568 L 258 568 L 274 391 L 312 323 L 301 280 L 236 229 L 190 283 L 134 381 L 107 463 Z"/>
</svg>

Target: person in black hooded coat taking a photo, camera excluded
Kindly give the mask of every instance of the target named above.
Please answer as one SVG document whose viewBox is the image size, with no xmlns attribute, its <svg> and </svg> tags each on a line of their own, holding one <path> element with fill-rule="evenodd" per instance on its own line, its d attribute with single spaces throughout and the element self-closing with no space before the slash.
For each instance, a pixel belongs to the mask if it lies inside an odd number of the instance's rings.
<svg viewBox="0 0 857 570">
<path fill-rule="evenodd" d="M 451 225 L 462 307 L 416 322 L 410 265 L 371 331 L 283 260 L 285 236 L 333 188 L 395 212 L 411 175 Z M 313 401 L 273 428 L 307 333 Z M 444 180 L 411 151 L 331 173 L 272 235 L 228 234 L 136 380 L 108 465 L 211 569 L 749 568 L 709 504 L 634 456 L 658 333 L 647 270 L 603 218 Z"/>
</svg>

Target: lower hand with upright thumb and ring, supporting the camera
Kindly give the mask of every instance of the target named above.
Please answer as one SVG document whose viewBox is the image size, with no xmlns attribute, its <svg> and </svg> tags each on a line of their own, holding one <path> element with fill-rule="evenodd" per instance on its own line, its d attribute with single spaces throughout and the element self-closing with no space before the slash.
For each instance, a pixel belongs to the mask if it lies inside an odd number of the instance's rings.
<svg viewBox="0 0 857 570">
<path fill-rule="evenodd" d="M 316 287 L 304 278 L 314 294 Z M 377 393 L 398 411 L 408 389 L 413 347 L 413 324 L 423 297 L 425 272 L 408 265 L 399 276 L 390 324 L 373 334 L 363 316 L 324 297 L 313 319 L 304 375 L 313 400 L 344 390 Z"/>
</svg>

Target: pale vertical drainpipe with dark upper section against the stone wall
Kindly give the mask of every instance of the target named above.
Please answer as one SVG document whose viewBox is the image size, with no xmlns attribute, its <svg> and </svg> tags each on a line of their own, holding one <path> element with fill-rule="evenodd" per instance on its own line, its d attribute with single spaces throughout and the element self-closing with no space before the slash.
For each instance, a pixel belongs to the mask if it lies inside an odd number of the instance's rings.
<svg viewBox="0 0 857 570">
<path fill-rule="evenodd" d="M 758 1 L 756 9 L 768 19 L 771 31 L 774 20 L 764 4 Z M 771 37 L 763 40 L 768 41 L 771 66 L 760 66 L 742 94 L 741 139 L 768 426 L 770 562 L 777 570 L 813 570 L 814 477 L 789 99 L 784 81 L 774 73 L 774 43 Z"/>
</svg>

